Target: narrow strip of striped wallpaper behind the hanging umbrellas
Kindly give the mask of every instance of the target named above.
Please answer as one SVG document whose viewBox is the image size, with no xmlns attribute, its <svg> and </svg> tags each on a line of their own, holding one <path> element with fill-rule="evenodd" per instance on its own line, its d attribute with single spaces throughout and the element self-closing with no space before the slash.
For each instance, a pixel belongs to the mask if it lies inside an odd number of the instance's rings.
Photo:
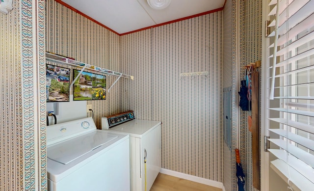
<svg viewBox="0 0 314 191">
<path fill-rule="evenodd" d="M 240 44 L 240 50 L 238 62 L 239 64 L 239 78 L 243 79 L 245 76 L 245 70 L 242 66 L 245 66 L 249 62 L 256 62 L 262 59 L 262 0 L 255 1 L 240 1 L 238 11 L 240 12 L 238 38 L 242 39 Z M 262 75 L 263 71 L 260 71 Z M 260 78 L 260 80 L 262 80 Z M 260 82 L 260 84 L 262 84 Z M 261 89 L 261 87 L 260 87 Z M 261 103 L 261 102 L 260 102 Z M 260 112 L 261 113 L 261 112 Z M 252 134 L 247 128 L 247 111 L 240 111 L 239 115 L 239 127 L 240 127 L 240 148 L 243 155 L 241 161 L 246 173 L 246 190 L 258 191 L 253 188 L 252 180 Z M 262 119 L 260 117 L 260 119 Z M 260 130 L 261 132 L 261 130 Z M 262 139 L 260 138 L 260 147 L 262 145 Z"/>
</svg>

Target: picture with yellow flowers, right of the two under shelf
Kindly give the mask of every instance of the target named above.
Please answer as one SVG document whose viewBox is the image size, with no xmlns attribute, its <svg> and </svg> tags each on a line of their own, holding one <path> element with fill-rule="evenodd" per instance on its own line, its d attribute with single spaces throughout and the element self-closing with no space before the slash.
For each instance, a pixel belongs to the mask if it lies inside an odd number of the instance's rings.
<svg viewBox="0 0 314 191">
<path fill-rule="evenodd" d="M 79 70 L 73 70 L 75 79 Z M 106 76 L 82 72 L 73 85 L 73 100 L 105 100 L 106 99 Z"/>
</svg>

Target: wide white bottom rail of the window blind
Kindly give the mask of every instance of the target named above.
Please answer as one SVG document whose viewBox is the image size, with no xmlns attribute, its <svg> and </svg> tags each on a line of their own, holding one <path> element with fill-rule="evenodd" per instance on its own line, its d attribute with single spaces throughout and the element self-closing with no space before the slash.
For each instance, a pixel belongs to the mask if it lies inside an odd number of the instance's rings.
<svg viewBox="0 0 314 191">
<path fill-rule="evenodd" d="M 304 178 L 302 174 L 289 166 L 287 163 L 276 159 L 270 162 L 270 167 L 279 174 L 282 173 L 285 177 L 289 178 L 289 181 L 297 186 L 300 190 L 313 191 L 314 184 L 307 178 Z"/>
</svg>

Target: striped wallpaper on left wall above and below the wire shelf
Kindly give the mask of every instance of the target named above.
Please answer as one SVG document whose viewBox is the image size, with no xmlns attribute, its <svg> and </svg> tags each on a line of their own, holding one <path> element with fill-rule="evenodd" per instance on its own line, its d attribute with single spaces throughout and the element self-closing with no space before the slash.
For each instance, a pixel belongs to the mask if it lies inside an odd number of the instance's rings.
<svg viewBox="0 0 314 191">
<path fill-rule="evenodd" d="M 120 71 L 120 36 L 54 0 L 47 0 L 46 10 L 46 51 L 70 56 L 98 67 Z M 108 75 L 106 77 L 108 89 L 116 77 Z M 98 128 L 101 128 L 102 116 L 122 111 L 119 86 L 118 82 L 110 89 L 110 92 L 106 93 L 106 100 L 87 101 L 88 105 L 92 105 L 94 120 Z M 70 94 L 73 94 L 72 88 Z M 87 114 L 92 116 L 91 112 Z"/>
</svg>

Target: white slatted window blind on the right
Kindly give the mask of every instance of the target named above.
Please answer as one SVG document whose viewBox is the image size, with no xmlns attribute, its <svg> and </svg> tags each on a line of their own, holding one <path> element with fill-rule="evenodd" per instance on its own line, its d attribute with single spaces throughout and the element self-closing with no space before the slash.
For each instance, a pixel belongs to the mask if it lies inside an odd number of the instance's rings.
<svg viewBox="0 0 314 191">
<path fill-rule="evenodd" d="M 271 0 L 269 6 L 270 166 L 288 184 L 314 191 L 314 0 Z"/>
</svg>

